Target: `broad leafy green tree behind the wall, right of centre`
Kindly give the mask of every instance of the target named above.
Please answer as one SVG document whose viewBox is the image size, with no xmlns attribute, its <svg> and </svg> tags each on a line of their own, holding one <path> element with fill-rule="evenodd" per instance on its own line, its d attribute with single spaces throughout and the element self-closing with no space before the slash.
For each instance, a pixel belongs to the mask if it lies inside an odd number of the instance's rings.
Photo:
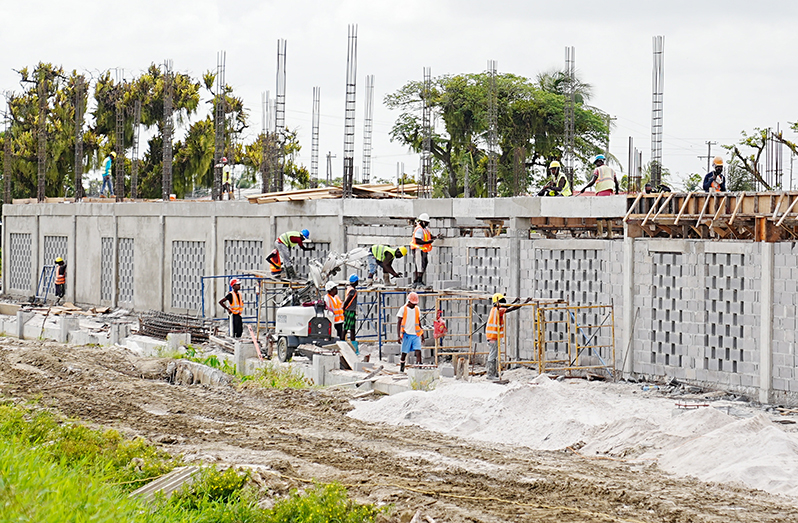
<svg viewBox="0 0 798 523">
<path fill-rule="evenodd" d="M 561 85 L 545 77 L 545 88 L 512 74 L 496 76 L 499 193 L 524 192 L 534 166 L 545 166 L 562 156 L 564 103 Z M 433 121 L 443 131 L 432 134 L 435 160 L 434 194 L 455 197 L 463 192 L 465 166 L 469 166 L 473 196 L 487 194 L 486 143 L 488 132 L 487 73 L 445 75 L 432 80 L 429 103 Z M 391 129 L 391 139 L 420 152 L 423 143 L 421 109 L 423 83 L 409 82 L 385 97 L 385 104 L 401 111 Z M 558 89 L 560 92 L 558 92 Z M 576 154 L 583 161 L 600 152 L 607 128 L 601 113 L 584 105 L 587 88 L 575 109 Z M 518 178 L 518 179 L 516 179 Z"/>
</svg>

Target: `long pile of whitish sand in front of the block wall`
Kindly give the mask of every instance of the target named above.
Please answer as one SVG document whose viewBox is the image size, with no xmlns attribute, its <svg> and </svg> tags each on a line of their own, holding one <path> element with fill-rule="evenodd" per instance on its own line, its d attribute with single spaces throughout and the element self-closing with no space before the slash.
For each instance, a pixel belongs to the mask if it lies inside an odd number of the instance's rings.
<svg viewBox="0 0 798 523">
<path fill-rule="evenodd" d="M 350 415 L 541 450 L 581 444 L 585 454 L 656 461 L 677 475 L 798 496 L 798 434 L 753 408 L 730 415 L 676 403 L 634 385 L 540 376 L 506 386 L 444 382 L 356 402 Z"/>
</svg>

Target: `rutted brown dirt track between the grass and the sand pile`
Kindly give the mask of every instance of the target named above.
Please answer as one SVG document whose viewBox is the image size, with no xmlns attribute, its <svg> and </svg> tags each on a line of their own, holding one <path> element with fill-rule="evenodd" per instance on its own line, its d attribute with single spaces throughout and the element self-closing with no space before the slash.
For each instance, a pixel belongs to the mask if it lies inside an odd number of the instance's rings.
<svg viewBox="0 0 798 523">
<path fill-rule="evenodd" d="M 0 395 L 141 435 L 189 459 L 255 464 L 272 491 L 339 481 L 435 521 L 798 521 L 798 503 L 571 451 L 479 444 L 346 416 L 347 391 L 171 385 L 125 349 L 0 338 Z"/>
</svg>

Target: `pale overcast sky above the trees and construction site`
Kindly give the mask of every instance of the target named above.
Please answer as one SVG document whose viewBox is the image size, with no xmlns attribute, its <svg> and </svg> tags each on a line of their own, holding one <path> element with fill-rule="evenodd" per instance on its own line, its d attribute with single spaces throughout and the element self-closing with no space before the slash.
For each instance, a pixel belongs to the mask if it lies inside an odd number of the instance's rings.
<svg viewBox="0 0 798 523">
<path fill-rule="evenodd" d="M 393 179 L 418 157 L 391 143 L 397 116 L 383 97 L 422 68 L 433 76 L 499 72 L 534 78 L 563 68 L 576 48 L 591 104 L 617 117 L 611 152 L 626 169 L 627 143 L 649 159 L 652 36 L 665 36 L 663 164 L 704 173 L 707 140 L 730 144 L 742 130 L 798 120 L 798 2 L 794 0 L 0 0 L 0 89 L 19 90 L 14 69 L 38 61 L 97 77 L 132 78 L 169 58 L 199 77 L 227 52 L 227 82 L 261 127 L 261 92 L 274 96 L 277 39 L 287 40 L 286 124 L 299 128 L 310 167 L 312 89 L 321 87 L 319 173 L 328 151 L 342 170 L 347 24 L 358 24 L 355 165 L 362 165 L 365 76 L 375 76 L 372 178 Z M 207 106 L 200 108 L 204 117 Z M 790 135 L 794 138 L 794 135 Z M 713 154 L 725 151 L 720 145 Z M 785 174 L 790 157 L 785 150 Z M 796 162 L 798 163 L 798 162 Z M 798 165 L 796 165 L 798 186 Z M 785 178 L 786 180 L 786 178 Z"/>
</svg>

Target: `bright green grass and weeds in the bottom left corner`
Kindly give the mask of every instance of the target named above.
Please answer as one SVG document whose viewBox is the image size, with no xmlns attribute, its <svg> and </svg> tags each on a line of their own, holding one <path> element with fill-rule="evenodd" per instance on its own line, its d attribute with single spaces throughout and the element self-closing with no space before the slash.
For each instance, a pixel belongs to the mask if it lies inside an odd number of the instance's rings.
<svg viewBox="0 0 798 523">
<path fill-rule="evenodd" d="M 152 506 L 127 497 L 180 464 L 143 439 L 0 403 L 0 523 L 366 523 L 389 510 L 355 503 L 335 483 L 262 509 L 247 471 L 215 466 Z"/>
</svg>

